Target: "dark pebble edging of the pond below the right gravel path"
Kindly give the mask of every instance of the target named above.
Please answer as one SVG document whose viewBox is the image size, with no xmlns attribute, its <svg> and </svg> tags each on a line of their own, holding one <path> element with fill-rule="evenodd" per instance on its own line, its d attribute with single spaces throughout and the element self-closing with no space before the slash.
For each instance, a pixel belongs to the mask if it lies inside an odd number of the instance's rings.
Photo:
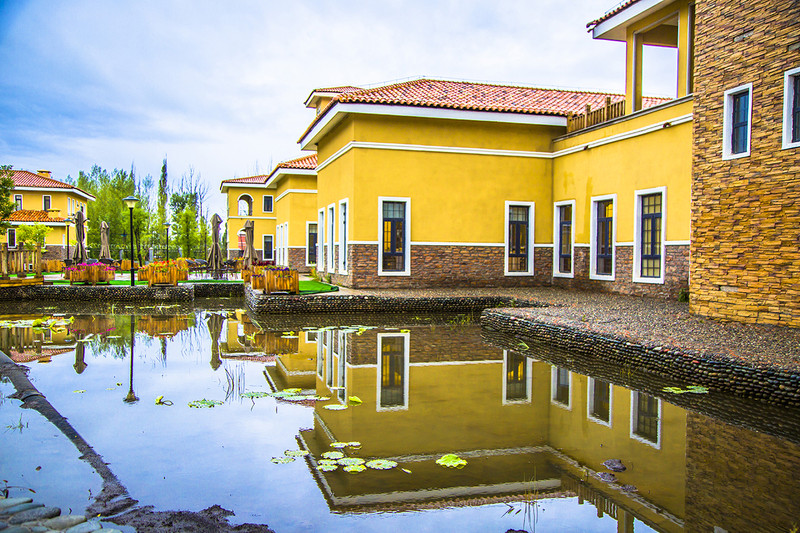
<svg viewBox="0 0 800 533">
<path fill-rule="evenodd" d="M 778 368 L 761 368 L 666 347 L 644 346 L 591 331 L 536 322 L 504 313 L 501 309 L 485 309 L 481 314 L 481 325 L 514 338 L 547 343 L 631 371 L 703 385 L 710 390 L 780 406 L 800 406 L 800 374 Z M 516 351 L 524 354 L 524 343 Z"/>
</svg>

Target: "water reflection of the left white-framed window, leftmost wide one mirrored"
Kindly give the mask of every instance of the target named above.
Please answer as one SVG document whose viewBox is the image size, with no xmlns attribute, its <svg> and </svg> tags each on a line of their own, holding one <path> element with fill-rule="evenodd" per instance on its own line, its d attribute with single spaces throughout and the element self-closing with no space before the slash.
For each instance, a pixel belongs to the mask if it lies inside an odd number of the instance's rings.
<svg viewBox="0 0 800 533">
<path fill-rule="evenodd" d="M 378 333 L 378 411 L 408 409 L 410 333 Z"/>
</svg>

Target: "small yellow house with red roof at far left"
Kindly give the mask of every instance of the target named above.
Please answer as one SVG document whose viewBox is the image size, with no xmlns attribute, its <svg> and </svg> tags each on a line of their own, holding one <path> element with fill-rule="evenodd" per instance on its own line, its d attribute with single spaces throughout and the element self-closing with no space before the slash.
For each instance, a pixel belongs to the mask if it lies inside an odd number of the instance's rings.
<svg viewBox="0 0 800 533">
<path fill-rule="evenodd" d="M 0 236 L 10 249 L 16 249 L 17 230 L 20 226 L 44 224 L 51 228 L 45 239 L 44 259 L 67 257 L 67 228 L 74 242 L 73 219 L 78 211 L 87 212 L 88 202 L 95 200 L 91 194 L 50 176 L 50 171 L 14 170 L 12 192 L 16 210 L 9 217 L 11 227 Z"/>
</svg>

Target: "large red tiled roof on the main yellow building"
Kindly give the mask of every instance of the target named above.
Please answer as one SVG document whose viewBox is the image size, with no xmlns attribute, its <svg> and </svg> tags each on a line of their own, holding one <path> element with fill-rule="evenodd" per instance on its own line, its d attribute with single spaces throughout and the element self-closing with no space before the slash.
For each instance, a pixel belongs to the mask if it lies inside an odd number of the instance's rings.
<svg viewBox="0 0 800 533">
<path fill-rule="evenodd" d="M 337 103 L 402 105 L 457 109 L 464 111 L 492 111 L 530 115 L 567 116 L 582 113 L 586 105 L 597 108 L 605 105 L 606 97 L 612 102 L 625 95 L 565 89 L 540 89 L 518 85 L 493 85 L 466 81 L 418 79 L 335 96 L 319 113 L 303 137 Z M 668 101 L 668 98 L 644 98 L 649 107 Z"/>
</svg>

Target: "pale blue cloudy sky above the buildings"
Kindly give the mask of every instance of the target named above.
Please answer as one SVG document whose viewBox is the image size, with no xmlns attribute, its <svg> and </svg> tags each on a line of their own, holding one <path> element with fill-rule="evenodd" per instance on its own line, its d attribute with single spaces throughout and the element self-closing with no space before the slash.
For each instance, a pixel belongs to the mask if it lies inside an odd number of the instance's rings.
<svg viewBox="0 0 800 533">
<path fill-rule="evenodd" d="M 174 185 L 192 170 L 223 218 L 224 179 L 305 155 L 315 88 L 421 76 L 624 92 L 625 45 L 586 23 L 616 0 L 0 0 L 0 164 L 93 165 Z M 675 54 L 644 92 L 674 95 Z"/>
</svg>

